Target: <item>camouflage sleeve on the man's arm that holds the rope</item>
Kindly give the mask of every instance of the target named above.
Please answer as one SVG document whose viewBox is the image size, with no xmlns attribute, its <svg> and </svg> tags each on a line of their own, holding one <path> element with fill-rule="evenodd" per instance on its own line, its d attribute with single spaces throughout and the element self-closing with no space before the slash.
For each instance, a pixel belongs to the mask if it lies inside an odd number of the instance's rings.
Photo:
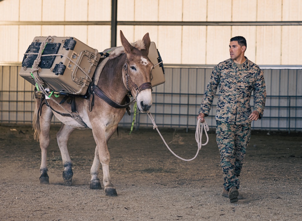
<svg viewBox="0 0 302 221">
<path fill-rule="evenodd" d="M 203 99 L 200 105 L 199 113 L 204 113 L 205 116 L 209 116 L 214 96 L 217 91 L 218 84 L 220 82 L 220 70 L 218 66 L 213 68 L 209 83 L 203 95 Z"/>
</svg>

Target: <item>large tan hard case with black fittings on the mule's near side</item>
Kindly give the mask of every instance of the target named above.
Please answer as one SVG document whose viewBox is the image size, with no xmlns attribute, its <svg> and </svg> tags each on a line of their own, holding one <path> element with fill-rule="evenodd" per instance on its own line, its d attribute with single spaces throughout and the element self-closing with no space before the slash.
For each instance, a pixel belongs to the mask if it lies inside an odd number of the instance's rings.
<svg viewBox="0 0 302 221">
<path fill-rule="evenodd" d="M 32 44 L 37 45 L 37 43 L 43 42 L 46 38 L 47 37 L 41 36 L 35 37 Z M 68 42 L 70 39 L 72 39 L 71 42 L 76 42 L 73 47 L 68 47 Z M 52 90 L 60 93 L 85 95 L 91 82 L 89 77 L 93 77 L 94 71 L 101 57 L 101 55 L 98 53 L 98 50 L 87 46 L 80 40 L 73 37 L 53 37 L 48 39 L 47 44 L 48 43 L 60 43 L 60 47 L 51 67 L 40 68 L 38 71 L 39 77 L 41 77 L 45 83 L 45 88 L 49 88 L 50 91 Z M 67 47 L 65 47 L 65 45 L 67 45 Z M 30 47 L 28 48 L 28 51 Z M 31 82 L 31 84 L 35 85 L 35 81 L 31 76 L 31 66 L 26 67 L 30 64 L 24 64 L 26 57 L 27 56 L 24 56 L 22 62 L 23 68 L 21 68 L 19 75 Z M 43 57 L 41 58 L 43 59 Z M 79 65 L 83 71 L 86 72 L 86 74 L 73 62 Z M 59 64 L 66 66 L 63 74 L 58 74 L 59 72 L 54 73 L 55 66 Z M 39 65 L 39 67 L 41 66 Z M 87 75 L 89 75 L 89 77 Z"/>
</svg>

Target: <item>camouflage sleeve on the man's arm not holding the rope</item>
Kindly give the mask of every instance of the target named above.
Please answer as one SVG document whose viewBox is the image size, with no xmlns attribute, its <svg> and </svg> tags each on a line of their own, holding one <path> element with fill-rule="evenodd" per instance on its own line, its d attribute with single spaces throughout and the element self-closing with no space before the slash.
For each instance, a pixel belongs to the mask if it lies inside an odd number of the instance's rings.
<svg viewBox="0 0 302 221">
<path fill-rule="evenodd" d="M 254 86 L 254 110 L 259 112 L 259 119 L 263 116 L 265 107 L 266 89 L 263 71 L 260 70 Z"/>
</svg>

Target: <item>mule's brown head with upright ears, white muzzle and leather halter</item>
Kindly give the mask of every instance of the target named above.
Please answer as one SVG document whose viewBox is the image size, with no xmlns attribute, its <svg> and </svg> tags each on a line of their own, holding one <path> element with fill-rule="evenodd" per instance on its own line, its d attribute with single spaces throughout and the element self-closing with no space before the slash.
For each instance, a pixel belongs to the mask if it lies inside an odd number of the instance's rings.
<svg viewBox="0 0 302 221">
<path fill-rule="evenodd" d="M 132 46 L 122 31 L 121 41 L 127 55 L 123 67 L 125 87 L 131 91 L 137 102 L 138 110 L 147 112 L 152 105 L 151 71 L 153 63 L 148 58 L 150 47 L 149 33 Z"/>
</svg>

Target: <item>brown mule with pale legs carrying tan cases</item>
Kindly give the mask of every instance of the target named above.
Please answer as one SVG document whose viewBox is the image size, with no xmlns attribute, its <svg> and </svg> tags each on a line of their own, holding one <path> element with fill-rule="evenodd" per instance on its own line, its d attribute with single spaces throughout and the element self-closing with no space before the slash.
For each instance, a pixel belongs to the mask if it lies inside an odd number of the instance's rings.
<svg viewBox="0 0 302 221">
<path fill-rule="evenodd" d="M 154 66 L 147 56 L 150 46 L 149 33 L 146 33 L 142 40 L 138 40 L 134 46 L 128 42 L 122 31 L 120 31 L 120 36 L 124 50 L 118 55 L 109 55 L 96 86 L 111 100 L 121 105 L 126 103 L 126 95 L 130 91 L 136 99 L 138 110 L 140 112 L 147 112 L 152 105 L 152 87 L 150 82 L 151 71 Z M 141 87 L 137 85 L 141 85 Z M 54 99 L 57 102 L 62 100 L 61 97 Z M 42 105 L 45 100 L 41 99 L 41 97 L 36 98 L 33 130 L 34 137 L 37 141 L 40 141 L 41 147 L 40 183 L 49 184 L 46 156 L 47 147 L 50 143 L 50 122 L 53 115 L 55 115 L 56 118 L 63 123 L 57 132 L 57 141 L 64 167 L 64 184 L 72 185 L 73 177 L 72 161 L 67 150 L 69 136 L 75 129 L 90 128 L 96 141 L 96 149 L 90 170 L 91 180 L 89 187 L 91 189 L 102 189 L 99 179 L 99 167 L 100 164 L 102 164 L 105 193 L 107 196 L 117 196 L 109 174 L 110 154 L 107 143 L 112 134 L 117 130 L 118 124 L 124 116 L 126 109 L 112 107 L 99 96 L 94 96 L 92 109 L 89 107 L 89 105 L 91 106 L 91 99 L 79 97 L 73 97 L 73 99 L 76 106 L 76 113 L 82 119 L 82 123 L 79 123 L 79 121 L 73 117 L 60 114 L 64 113 L 63 108 L 72 110 L 72 106 L 69 102 L 62 103 L 62 108 L 50 99 L 47 99 L 47 105 Z"/>
</svg>

